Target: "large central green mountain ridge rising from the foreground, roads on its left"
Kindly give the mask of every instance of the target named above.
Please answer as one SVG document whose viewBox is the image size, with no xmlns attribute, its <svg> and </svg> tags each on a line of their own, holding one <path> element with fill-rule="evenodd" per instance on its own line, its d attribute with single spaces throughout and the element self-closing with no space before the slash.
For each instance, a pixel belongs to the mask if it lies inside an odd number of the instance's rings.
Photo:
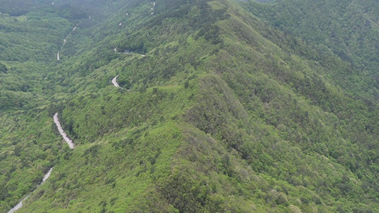
<svg viewBox="0 0 379 213">
<path fill-rule="evenodd" d="M 341 83 L 366 75 L 262 21 L 275 4 L 86 4 L 106 17 L 44 108 L 76 147 L 19 212 L 378 211 L 376 100 Z"/>
</svg>

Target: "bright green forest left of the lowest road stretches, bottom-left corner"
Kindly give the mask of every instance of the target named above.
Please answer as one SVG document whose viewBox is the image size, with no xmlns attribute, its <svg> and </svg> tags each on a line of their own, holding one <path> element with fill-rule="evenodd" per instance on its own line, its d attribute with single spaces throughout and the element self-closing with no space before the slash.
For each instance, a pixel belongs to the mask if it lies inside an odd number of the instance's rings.
<svg viewBox="0 0 379 213">
<path fill-rule="evenodd" d="M 69 153 L 62 148 L 64 144 L 46 110 L 2 116 L 0 141 L 0 203 L 6 211 L 36 188 L 49 168 Z"/>
</svg>

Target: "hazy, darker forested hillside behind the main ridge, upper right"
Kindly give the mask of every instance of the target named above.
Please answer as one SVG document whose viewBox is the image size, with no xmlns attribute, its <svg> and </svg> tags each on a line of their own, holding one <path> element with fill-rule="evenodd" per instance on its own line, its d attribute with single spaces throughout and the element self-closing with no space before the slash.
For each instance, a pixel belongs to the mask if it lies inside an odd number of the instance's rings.
<svg viewBox="0 0 379 213">
<path fill-rule="evenodd" d="M 351 66 L 329 74 L 342 88 L 359 98 L 378 99 L 379 20 L 375 0 L 278 0 L 275 4 L 244 4 L 263 21 L 312 45 L 332 52 Z M 312 60 L 319 61 L 312 56 Z"/>
</svg>

